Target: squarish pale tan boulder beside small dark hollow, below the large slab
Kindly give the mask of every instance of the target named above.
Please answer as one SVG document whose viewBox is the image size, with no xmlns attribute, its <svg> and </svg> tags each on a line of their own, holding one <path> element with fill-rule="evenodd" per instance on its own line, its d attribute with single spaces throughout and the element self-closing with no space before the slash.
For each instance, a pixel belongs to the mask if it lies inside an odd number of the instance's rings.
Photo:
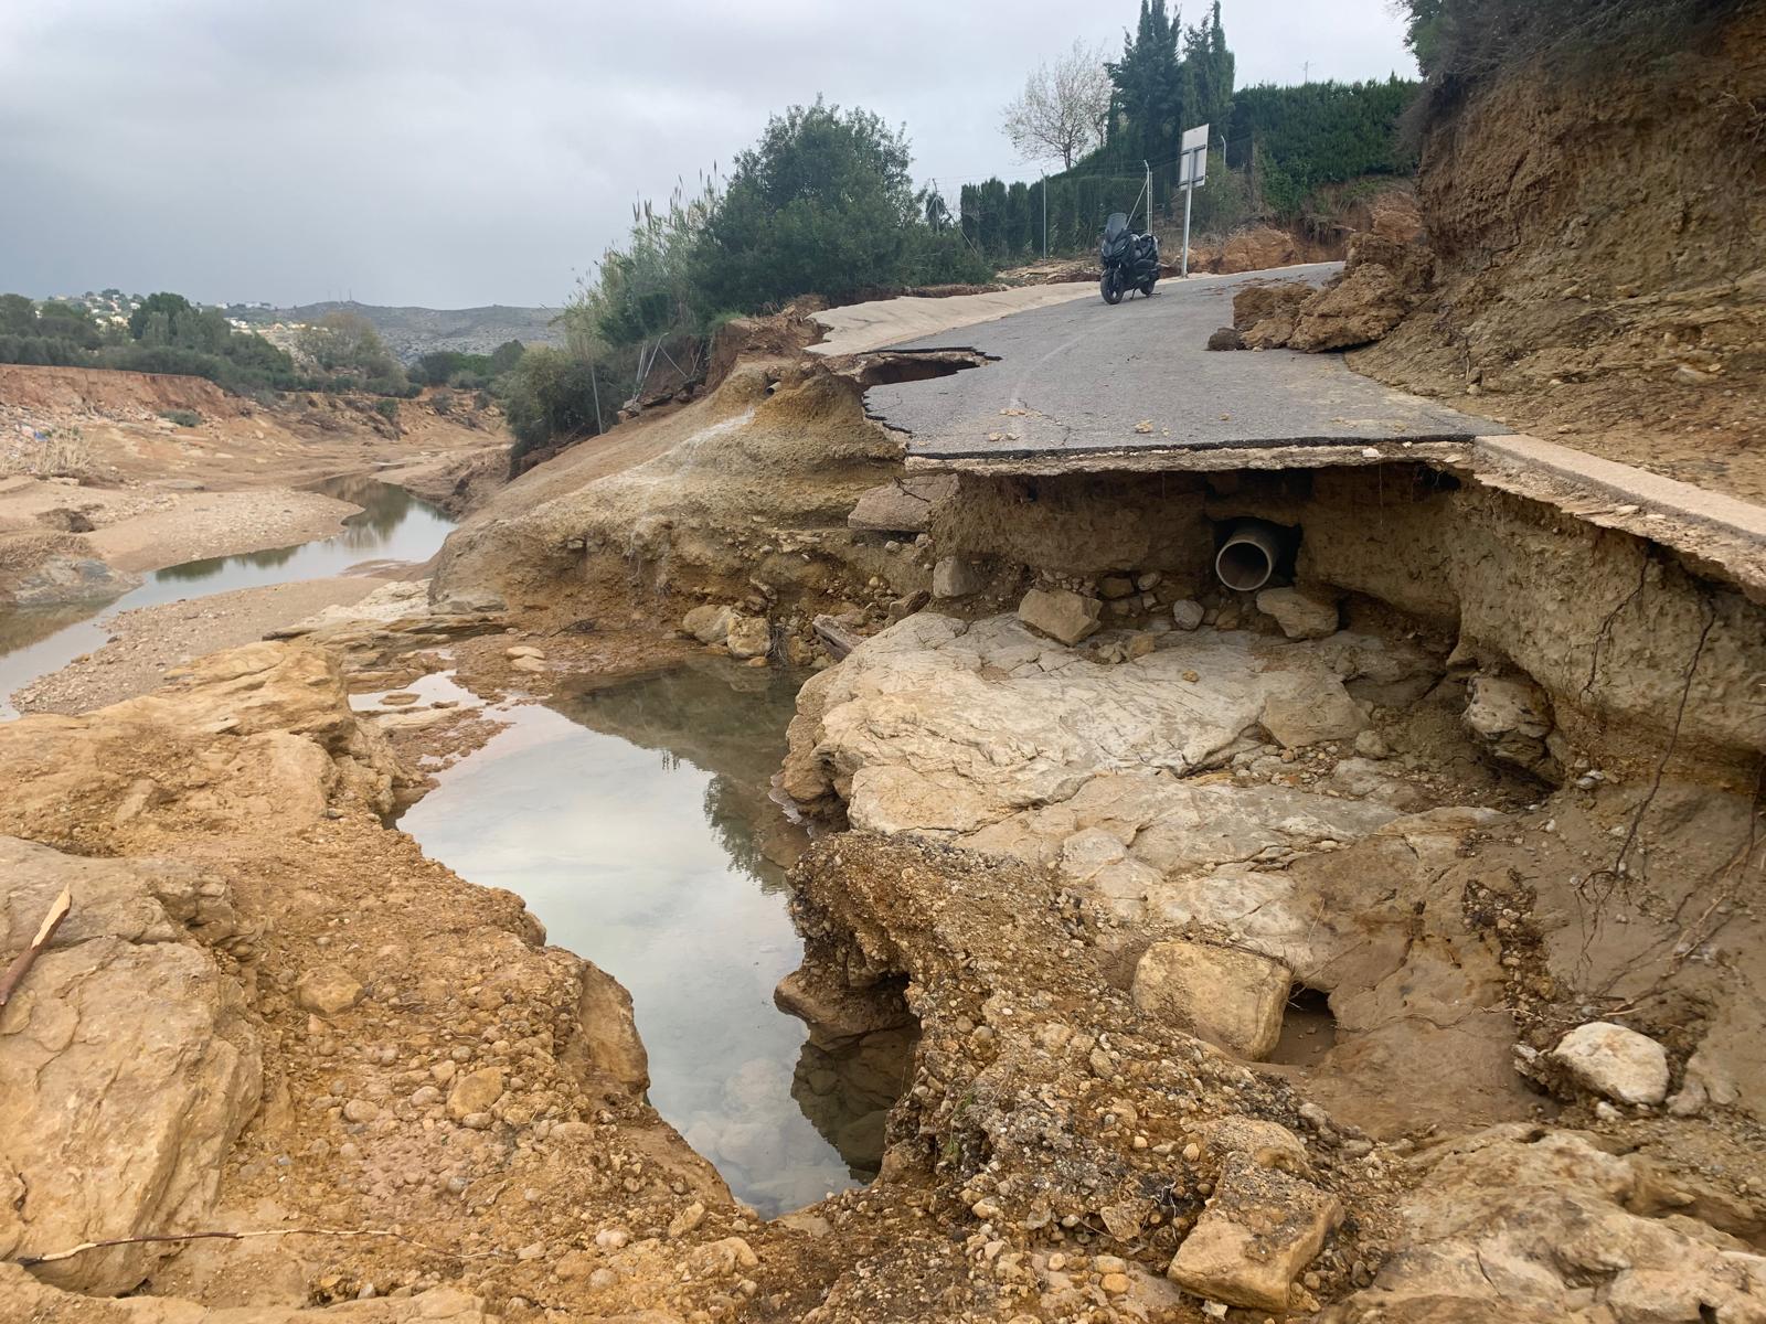
<svg viewBox="0 0 1766 1324">
<path fill-rule="evenodd" d="M 1146 950 L 1130 994 L 1143 1012 L 1261 1061 L 1282 1036 L 1293 980 L 1287 966 L 1254 952 L 1173 941 Z"/>
</svg>

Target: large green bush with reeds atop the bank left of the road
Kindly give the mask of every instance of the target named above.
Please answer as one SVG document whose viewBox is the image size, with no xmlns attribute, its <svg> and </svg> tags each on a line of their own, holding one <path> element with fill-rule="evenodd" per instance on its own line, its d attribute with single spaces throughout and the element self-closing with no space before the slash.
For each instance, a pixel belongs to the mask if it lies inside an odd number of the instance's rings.
<svg viewBox="0 0 1766 1324">
<path fill-rule="evenodd" d="M 694 380 L 712 332 L 733 316 L 802 295 L 989 279 L 943 198 L 915 191 L 909 166 L 901 129 L 818 101 L 768 120 L 728 182 L 701 177 L 692 192 L 680 185 L 660 207 L 636 207 L 625 242 L 565 309 L 567 348 L 528 350 L 503 380 L 517 464 L 560 436 L 611 427 L 659 378 Z"/>
</svg>

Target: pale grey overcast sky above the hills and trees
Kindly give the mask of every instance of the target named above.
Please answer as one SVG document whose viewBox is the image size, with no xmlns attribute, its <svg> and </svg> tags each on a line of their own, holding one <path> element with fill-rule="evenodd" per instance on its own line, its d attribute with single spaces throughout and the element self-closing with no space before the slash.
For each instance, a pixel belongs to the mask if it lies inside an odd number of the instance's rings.
<svg viewBox="0 0 1766 1324">
<path fill-rule="evenodd" d="M 816 94 L 906 122 L 952 198 L 1033 175 L 1000 108 L 1137 9 L 0 0 L 0 290 L 556 305 L 636 198 Z M 1390 0 L 1222 9 L 1240 85 L 1416 72 Z"/>
</svg>

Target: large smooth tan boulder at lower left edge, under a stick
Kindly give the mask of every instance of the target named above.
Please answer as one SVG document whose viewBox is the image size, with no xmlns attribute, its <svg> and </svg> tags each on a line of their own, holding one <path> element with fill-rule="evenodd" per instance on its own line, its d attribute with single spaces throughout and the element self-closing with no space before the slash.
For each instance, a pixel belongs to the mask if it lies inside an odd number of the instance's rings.
<svg viewBox="0 0 1766 1324">
<path fill-rule="evenodd" d="M 0 860 L 0 964 L 62 888 L 72 899 L 0 1012 L 0 1257 L 201 1227 L 261 1093 L 238 985 L 157 899 L 164 869 L 14 840 Z M 171 1250 L 113 1246 L 37 1273 L 125 1292 Z"/>
</svg>

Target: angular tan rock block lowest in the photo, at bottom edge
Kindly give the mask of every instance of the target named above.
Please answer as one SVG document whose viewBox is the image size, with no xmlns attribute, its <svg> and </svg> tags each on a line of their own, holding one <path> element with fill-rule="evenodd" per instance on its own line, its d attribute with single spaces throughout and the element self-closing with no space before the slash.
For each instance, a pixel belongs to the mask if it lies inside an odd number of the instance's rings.
<svg viewBox="0 0 1766 1324">
<path fill-rule="evenodd" d="M 1289 1285 L 1340 1218 L 1335 1195 L 1234 1153 L 1166 1275 L 1210 1301 L 1286 1312 Z"/>
</svg>

